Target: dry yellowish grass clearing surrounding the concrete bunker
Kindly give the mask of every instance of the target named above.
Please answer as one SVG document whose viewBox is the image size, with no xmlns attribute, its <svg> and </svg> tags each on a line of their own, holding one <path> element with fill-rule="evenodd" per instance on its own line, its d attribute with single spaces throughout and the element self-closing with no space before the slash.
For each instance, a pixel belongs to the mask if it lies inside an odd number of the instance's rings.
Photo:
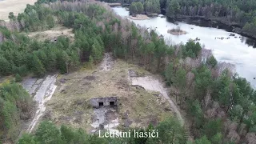
<svg viewBox="0 0 256 144">
<path fill-rule="evenodd" d="M 147 92 L 140 87 L 130 86 L 128 70 L 150 74 L 139 66 L 116 60 L 109 71 L 82 69 L 72 74 L 58 76 L 58 88 L 48 102 L 50 119 L 57 124 L 68 124 L 91 130 L 93 108 L 90 98 L 118 97 L 120 126 L 147 126 L 158 123 L 171 115 L 170 107 L 158 93 Z"/>
</svg>

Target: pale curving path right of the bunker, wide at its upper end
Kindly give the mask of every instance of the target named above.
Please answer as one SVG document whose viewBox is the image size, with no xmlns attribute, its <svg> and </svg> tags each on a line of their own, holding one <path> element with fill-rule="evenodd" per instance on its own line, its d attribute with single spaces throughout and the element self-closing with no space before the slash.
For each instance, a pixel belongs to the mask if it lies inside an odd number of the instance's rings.
<svg viewBox="0 0 256 144">
<path fill-rule="evenodd" d="M 146 90 L 158 91 L 162 94 L 164 98 L 170 103 L 172 110 L 177 114 L 178 120 L 181 122 L 181 125 L 184 126 L 184 119 L 182 118 L 182 114 L 178 110 L 178 107 L 175 103 L 170 99 L 167 94 L 167 90 L 164 88 L 161 82 L 157 78 L 153 77 L 131 77 L 130 82 L 132 85 L 142 86 Z"/>
</svg>

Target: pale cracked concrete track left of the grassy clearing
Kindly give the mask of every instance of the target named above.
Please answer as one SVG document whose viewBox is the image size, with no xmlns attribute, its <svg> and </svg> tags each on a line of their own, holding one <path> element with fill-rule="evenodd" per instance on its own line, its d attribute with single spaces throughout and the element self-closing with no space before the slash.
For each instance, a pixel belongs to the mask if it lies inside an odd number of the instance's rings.
<svg viewBox="0 0 256 144">
<path fill-rule="evenodd" d="M 58 74 L 48 75 L 46 78 L 28 78 L 22 82 L 22 86 L 29 94 L 34 95 L 34 101 L 38 102 L 38 110 L 34 114 L 27 131 L 30 133 L 38 123 L 46 110 L 45 103 L 50 100 L 57 86 L 55 85 Z"/>
</svg>

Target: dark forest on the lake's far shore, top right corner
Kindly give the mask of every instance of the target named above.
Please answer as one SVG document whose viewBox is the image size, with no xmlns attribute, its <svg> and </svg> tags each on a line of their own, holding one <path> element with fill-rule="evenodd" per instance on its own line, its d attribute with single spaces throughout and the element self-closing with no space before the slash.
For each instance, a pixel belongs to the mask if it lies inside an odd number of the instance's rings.
<svg viewBox="0 0 256 144">
<path fill-rule="evenodd" d="M 253 0 L 162 0 L 160 3 L 168 17 L 206 18 L 242 26 L 236 32 L 255 37 L 256 2 Z"/>
</svg>

